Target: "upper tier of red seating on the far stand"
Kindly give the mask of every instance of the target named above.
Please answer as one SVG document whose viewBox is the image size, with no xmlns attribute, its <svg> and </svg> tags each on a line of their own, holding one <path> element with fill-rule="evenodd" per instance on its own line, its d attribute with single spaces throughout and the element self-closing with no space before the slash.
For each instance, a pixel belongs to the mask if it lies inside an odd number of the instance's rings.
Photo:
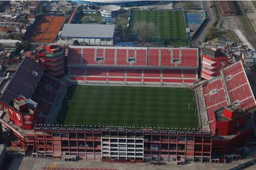
<svg viewBox="0 0 256 170">
<path fill-rule="evenodd" d="M 198 67 L 197 49 L 170 49 L 145 47 L 81 47 L 69 48 L 68 64 Z M 82 53 L 82 63 L 80 63 Z M 102 60 L 97 60 L 101 58 Z M 173 61 L 171 61 L 171 59 Z"/>
</svg>

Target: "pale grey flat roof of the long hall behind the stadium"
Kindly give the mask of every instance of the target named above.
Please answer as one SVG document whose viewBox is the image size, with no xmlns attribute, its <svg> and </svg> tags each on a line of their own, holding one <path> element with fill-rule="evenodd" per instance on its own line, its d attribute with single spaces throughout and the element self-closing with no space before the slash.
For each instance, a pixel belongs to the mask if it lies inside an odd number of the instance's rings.
<svg viewBox="0 0 256 170">
<path fill-rule="evenodd" d="M 113 38 L 115 25 L 107 24 L 65 24 L 61 37 Z"/>
</svg>

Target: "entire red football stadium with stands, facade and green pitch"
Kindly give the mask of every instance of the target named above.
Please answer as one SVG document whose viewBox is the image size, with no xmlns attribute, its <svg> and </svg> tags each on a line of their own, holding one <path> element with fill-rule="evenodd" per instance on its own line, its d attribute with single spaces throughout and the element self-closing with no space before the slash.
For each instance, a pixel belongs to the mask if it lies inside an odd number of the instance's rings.
<svg viewBox="0 0 256 170">
<path fill-rule="evenodd" d="M 229 162 L 254 135 L 256 102 L 240 61 L 200 83 L 198 49 L 69 46 L 64 53 L 64 78 L 25 58 L 1 92 L 2 131 L 24 154 Z"/>
</svg>

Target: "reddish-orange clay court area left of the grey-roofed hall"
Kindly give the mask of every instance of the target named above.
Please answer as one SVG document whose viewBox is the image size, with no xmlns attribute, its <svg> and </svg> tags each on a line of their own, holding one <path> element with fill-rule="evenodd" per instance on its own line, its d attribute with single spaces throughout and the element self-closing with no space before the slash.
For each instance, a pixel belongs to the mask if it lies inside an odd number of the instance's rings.
<svg viewBox="0 0 256 170">
<path fill-rule="evenodd" d="M 66 21 L 65 16 L 39 16 L 35 27 L 29 34 L 31 42 L 52 43 Z"/>
</svg>

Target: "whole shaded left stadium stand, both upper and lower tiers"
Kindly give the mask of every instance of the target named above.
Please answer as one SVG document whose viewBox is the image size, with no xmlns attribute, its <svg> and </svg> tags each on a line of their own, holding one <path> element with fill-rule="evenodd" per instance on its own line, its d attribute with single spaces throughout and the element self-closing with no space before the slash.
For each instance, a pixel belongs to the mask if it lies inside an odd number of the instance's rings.
<svg viewBox="0 0 256 170">
<path fill-rule="evenodd" d="M 34 100 L 38 104 L 37 123 L 55 120 L 67 89 L 65 83 L 44 70 L 43 64 L 24 58 L 0 97 L 6 104 L 13 98 Z"/>
</svg>

